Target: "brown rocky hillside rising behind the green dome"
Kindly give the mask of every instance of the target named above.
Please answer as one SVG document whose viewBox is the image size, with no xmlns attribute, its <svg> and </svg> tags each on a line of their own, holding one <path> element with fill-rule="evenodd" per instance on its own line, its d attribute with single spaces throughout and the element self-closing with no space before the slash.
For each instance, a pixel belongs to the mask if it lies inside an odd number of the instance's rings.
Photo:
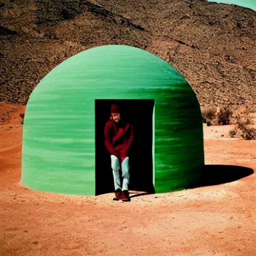
<svg viewBox="0 0 256 256">
<path fill-rule="evenodd" d="M 0 101 L 25 104 L 57 64 L 128 44 L 167 60 L 201 105 L 256 100 L 256 12 L 205 0 L 0 0 Z"/>
</svg>

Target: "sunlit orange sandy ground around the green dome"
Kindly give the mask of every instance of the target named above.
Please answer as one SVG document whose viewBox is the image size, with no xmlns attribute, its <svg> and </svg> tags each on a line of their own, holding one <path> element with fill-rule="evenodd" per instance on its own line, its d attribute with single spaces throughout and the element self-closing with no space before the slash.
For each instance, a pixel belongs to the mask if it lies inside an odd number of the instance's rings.
<svg viewBox="0 0 256 256">
<path fill-rule="evenodd" d="M 0 124 L 0 255 L 256 255 L 254 173 L 130 202 L 26 189 L 19 185 L 24 106 L 0 104 L 0 113 L 8 107 L 15 110 Z M 256 141 L 221 137 L 218 128 L 204 127 L 206 164 L 255 171 Z"/>
</svg>

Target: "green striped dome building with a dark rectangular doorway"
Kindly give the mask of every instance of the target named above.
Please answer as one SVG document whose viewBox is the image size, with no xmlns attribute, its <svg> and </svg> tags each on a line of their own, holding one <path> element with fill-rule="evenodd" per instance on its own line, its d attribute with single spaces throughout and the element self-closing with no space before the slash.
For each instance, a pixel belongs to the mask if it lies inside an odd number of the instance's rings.
<svg viewBox="0 0 256 256">
<path fill-rule="evenodd" d="M 35 87 L 24 116 L 21 183 L 65 194 L 114 191 L 103 135 L 112 103 L 134 124 L 129 189 L 199 184 L 203 130 L 193 89 L 166 61 L 128 45 L 82 51 Z"/>
</svg>

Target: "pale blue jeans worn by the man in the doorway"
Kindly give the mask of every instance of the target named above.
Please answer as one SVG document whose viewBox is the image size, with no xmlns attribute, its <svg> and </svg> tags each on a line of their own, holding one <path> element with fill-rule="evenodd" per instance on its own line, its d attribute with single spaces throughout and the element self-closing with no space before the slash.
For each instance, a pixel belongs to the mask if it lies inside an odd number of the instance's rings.
<svg viewBox="0 0 256 256">
<path fill-rule="evenodd" d="M 122 170 L 122 187 L 121 187 L 121 181 L 119 176 L 119 159 L 111 154 L 111 168 L 113 170 L 113 178 L 114 178 L 114 189 L 117 188 L 121 190 L 128 190 L 128 183 L 129 183 L 129 157 L 125 157 L 123 161 L 121 162 L 121 170 Z"/>
</svg>

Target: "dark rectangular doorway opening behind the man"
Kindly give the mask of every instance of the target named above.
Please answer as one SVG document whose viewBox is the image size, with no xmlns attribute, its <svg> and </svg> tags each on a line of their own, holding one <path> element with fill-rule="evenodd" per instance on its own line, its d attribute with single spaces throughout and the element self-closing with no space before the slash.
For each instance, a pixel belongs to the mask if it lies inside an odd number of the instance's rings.
<svg viewBox="0 0 256 256">
<path fill-rule="evenodd" d="M 110 117 L 111 104 L 114 103 L 119 104 L 122 117 L 134 125 L 128 188 L 154 193 L 152 158 L 154 100 L 95 99 L 95 194 L 114 191 L 110 154 L 104 145 L 104 126 Z"/>
</svg>

